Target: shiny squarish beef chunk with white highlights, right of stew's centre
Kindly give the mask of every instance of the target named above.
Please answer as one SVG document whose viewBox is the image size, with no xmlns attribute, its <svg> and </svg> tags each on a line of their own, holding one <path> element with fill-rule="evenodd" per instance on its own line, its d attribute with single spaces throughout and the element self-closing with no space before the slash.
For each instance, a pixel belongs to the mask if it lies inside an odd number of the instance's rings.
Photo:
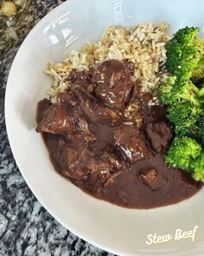
<svg viewBox="0 0 204 256">
<path fill-rule="evenodd" d="M 124 126 L 114 132 L 115 146 L 131 164 L 152 156 L 145 141 L 131 126 Z"/>
</svg>

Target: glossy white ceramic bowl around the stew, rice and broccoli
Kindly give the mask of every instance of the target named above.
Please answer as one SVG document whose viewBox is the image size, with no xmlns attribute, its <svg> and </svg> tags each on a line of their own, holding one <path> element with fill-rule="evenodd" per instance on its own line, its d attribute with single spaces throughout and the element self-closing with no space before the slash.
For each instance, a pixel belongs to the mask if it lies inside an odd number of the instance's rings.
<svg viewBox="0 0 204 256">
<path fill-rule="evenodd" d="M 56 220 L 82 239 L 121 255 L 204 255 L 204 190 L 177 205 L 126 209 L 96 200 L 54 171 L 41 136 L 35 133 L 36 104 L 50 85 L 42 70 L 70 49 L 99 39 L 107 26 L 166 22 L 175 31 L 201 27 L 201 0 L 69 0 L 45 16 L 22 43 L 6 90 L 10 146 L 25 181 Z M 193 230 L 194 242 L 175 240 L 176 229 Z M 170 234 L 167 243 L 147 245 L 148 234 Z M 150 240 L 148 240 L 150 241 Z"/>
</svg>

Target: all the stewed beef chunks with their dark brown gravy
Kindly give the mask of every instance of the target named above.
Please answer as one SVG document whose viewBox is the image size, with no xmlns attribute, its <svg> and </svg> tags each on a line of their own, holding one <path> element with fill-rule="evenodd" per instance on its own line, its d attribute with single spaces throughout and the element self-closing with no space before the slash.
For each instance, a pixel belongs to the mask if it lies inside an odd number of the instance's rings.
<svg viewBox="0 0 204 256">
<path fill-rule="evenodd" d="M 131 63 L 117 61 L 103 62 L 91 73 L 73 70 L 72 89 L 58 95 L 57 103 L 39 102 L 36 130 L 54 168 L 99 199 L 131 208 L 188 199 L 202 183 L 165 164 L 173 135 L 166 108 L 148 104 L 153 96 L 140 92 L 131 70 Z M 138 108 L 130 120 L 124 108 L 132 102 Z"/>
</svg>

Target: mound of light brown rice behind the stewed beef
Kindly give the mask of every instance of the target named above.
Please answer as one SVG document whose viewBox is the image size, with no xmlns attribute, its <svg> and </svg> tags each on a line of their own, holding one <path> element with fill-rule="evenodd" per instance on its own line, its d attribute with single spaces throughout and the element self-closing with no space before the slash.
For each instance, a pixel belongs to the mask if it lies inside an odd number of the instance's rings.
<svg viewBox="0 0 204 256">
<path fill-rule="evenodd" d="M 165 80 L 165 44 L 169 40 L 165 30 L 167 24 L 141 23 L 131 29 L 110 27 L 99 42 L 86 43 L 80 50 L 71 50 L 60 63 L 48 63 L 46 74 L 54 78 L 48 89 L 49 98 L 54 101 L 59 92 L 69 87 L 67 76 L 72 69 L 88 70 L 90 66 L 111 59 L 135 63 L 134 78 L 141 82 L 144 92 L 153 91 Z"/>
</svg>

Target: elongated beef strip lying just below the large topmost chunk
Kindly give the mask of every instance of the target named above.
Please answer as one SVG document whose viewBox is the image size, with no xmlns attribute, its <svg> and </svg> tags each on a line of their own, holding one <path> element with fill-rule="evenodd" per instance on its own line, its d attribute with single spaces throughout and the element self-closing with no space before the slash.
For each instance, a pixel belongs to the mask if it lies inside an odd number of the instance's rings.
<svg viewBox="0 0 204 256">
<path fill-rule="evenodd" d="M 93 123 L 115 125 L 120 121 L 118 113 L 102 103 L 93 102 L 87 95 L 75 91 L 79 99 L 81 110 Z"/>
</svg>

